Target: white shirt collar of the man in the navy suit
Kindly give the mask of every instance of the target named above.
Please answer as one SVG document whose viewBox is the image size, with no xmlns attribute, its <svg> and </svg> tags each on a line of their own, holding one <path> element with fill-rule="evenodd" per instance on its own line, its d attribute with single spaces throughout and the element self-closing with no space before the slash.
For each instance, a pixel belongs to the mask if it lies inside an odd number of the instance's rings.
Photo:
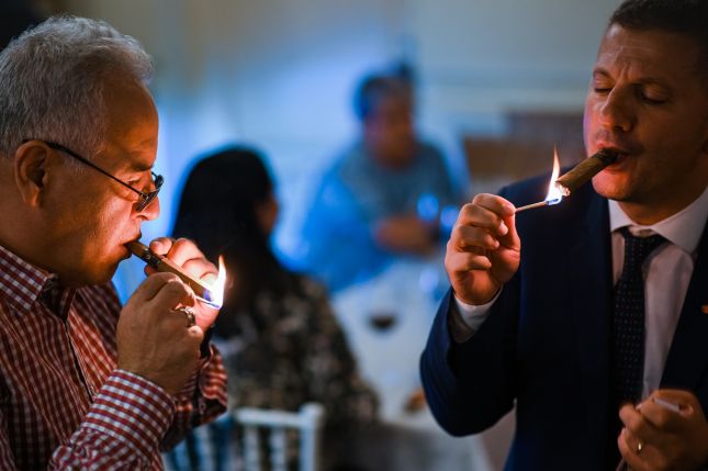
<svg viewBox="0 0 708 471">
<path fill-rule="evenodd" d="M 666 240 L 681 247 L 688 254 L 698 248 L 706 220 L 708 218 L 708 187 L 693 203 L 655 224 L 644 226 L 633 222 L 615 200 L 609 200 L 609 227 L 615 232 L 630 226 L 632 233 L 643 232 L 662 235 Z"/>
</svg>

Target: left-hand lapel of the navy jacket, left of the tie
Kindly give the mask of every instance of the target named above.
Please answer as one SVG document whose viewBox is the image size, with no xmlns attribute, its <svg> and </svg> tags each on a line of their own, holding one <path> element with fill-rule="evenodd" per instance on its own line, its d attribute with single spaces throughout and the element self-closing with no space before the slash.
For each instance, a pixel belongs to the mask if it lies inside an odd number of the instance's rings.
<svg viewBox="0 0 708 471">
<path fill-rule="evenodd" d="M 583 404 L 588 426 L 595 427 L 589 436 L 602 437 L 608 427 L 608 384 L 611 383 L 609 340 L 613 273 L 607 200 L 594 192 L 575 240 L 569 253 L 573 300 L 570 312 L 575 316 Z M 605 442 L 599 440 L 594 445 L 597 446 L 596 456 L 602 456 Z"/>
</svg>

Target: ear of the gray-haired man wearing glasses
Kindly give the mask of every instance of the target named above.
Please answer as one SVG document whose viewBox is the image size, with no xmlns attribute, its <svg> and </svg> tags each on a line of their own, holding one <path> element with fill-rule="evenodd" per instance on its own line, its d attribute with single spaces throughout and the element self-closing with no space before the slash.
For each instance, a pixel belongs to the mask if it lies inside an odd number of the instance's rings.
<svg viewBox="0 0 708 471">
<path fill-rule="evenodd" d="M 38 206 L 42 203 L 49 153 L 46 145 L 36 141 L 22 144 L 14 153 L 14 183 L 25 204 Z"/>
</svg>

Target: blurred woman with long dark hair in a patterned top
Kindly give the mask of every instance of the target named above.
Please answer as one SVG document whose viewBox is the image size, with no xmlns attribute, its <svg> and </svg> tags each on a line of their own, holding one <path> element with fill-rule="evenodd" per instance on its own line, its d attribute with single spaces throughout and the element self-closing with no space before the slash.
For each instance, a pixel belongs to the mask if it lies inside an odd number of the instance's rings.
<svg viewBox="0 0 708 471">
<path fill-rule="evenodd" d="M 189 173 L 173 236 L 194 240 L 214 262 L 224 257 L 229 284 L 213 335 L 228 371 L 229 407 L 297 411 L 321 403 L 324 463 L 336 469 L 331 458 L 342 456 L 342 437 L 375 420 L 378 400 L 358 375 L 325 290 L 276 258 L 270 235 L 278 211 L 260 156 L 229 147 Z M 231 434 L 224 429 L 220 440 L 224 433 Z"/>
</svg>

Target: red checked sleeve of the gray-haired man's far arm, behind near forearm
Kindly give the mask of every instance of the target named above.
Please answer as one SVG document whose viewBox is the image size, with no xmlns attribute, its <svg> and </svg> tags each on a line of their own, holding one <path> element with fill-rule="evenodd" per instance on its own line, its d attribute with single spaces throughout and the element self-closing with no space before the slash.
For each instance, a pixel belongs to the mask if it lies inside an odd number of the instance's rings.
<svg viewBox="0 0 708 471">
<path fill-rule="evenodd" d="M 214 345 L 210 347 L 210 355 L 175 399 L 175 419 L 160 446 L 162 451 L 175 447 L 190 429 L 226 411 L 226 371 L 220 351 Z"/>
</svg>

